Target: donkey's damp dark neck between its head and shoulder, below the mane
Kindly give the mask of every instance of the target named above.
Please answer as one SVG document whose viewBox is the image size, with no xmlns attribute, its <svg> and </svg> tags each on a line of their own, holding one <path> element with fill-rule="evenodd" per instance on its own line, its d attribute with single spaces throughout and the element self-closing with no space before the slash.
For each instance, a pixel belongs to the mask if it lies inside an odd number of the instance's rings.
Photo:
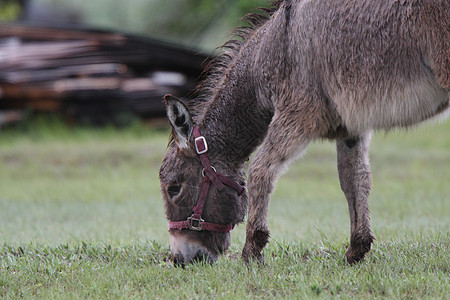
<svg viewBox="0 0 450 300">
<path fill-rule="evenodd" d="M 280 53 L 267 40 L 283 38 L 282 32 L 266 36 L 265 27 L 270 24 L 246 37 L 238 51 L 230 55 L 228 68 L 216 72 L 216 78 L 210 81 L 210 99 L 195 121 L 209 139 L 212 159 L 239 166 L 266 136 L 274 112 L 271 82 L 280 69 Z M 216 80 L 217 75 L 220 80 Z"/>
</svg>

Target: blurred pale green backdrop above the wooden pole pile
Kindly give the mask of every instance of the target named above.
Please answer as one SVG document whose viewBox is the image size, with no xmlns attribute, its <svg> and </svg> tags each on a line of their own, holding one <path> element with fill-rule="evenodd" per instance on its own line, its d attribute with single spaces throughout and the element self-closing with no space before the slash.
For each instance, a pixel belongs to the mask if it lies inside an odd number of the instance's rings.
<svg viewBox="0 0 450 300">
<path fill-rule="evenodd" d="M 270 0 L 32 0 L 70 9 L 84 23 L 199 49 L 225 42 L 239 20 Z"/>
</svg>

